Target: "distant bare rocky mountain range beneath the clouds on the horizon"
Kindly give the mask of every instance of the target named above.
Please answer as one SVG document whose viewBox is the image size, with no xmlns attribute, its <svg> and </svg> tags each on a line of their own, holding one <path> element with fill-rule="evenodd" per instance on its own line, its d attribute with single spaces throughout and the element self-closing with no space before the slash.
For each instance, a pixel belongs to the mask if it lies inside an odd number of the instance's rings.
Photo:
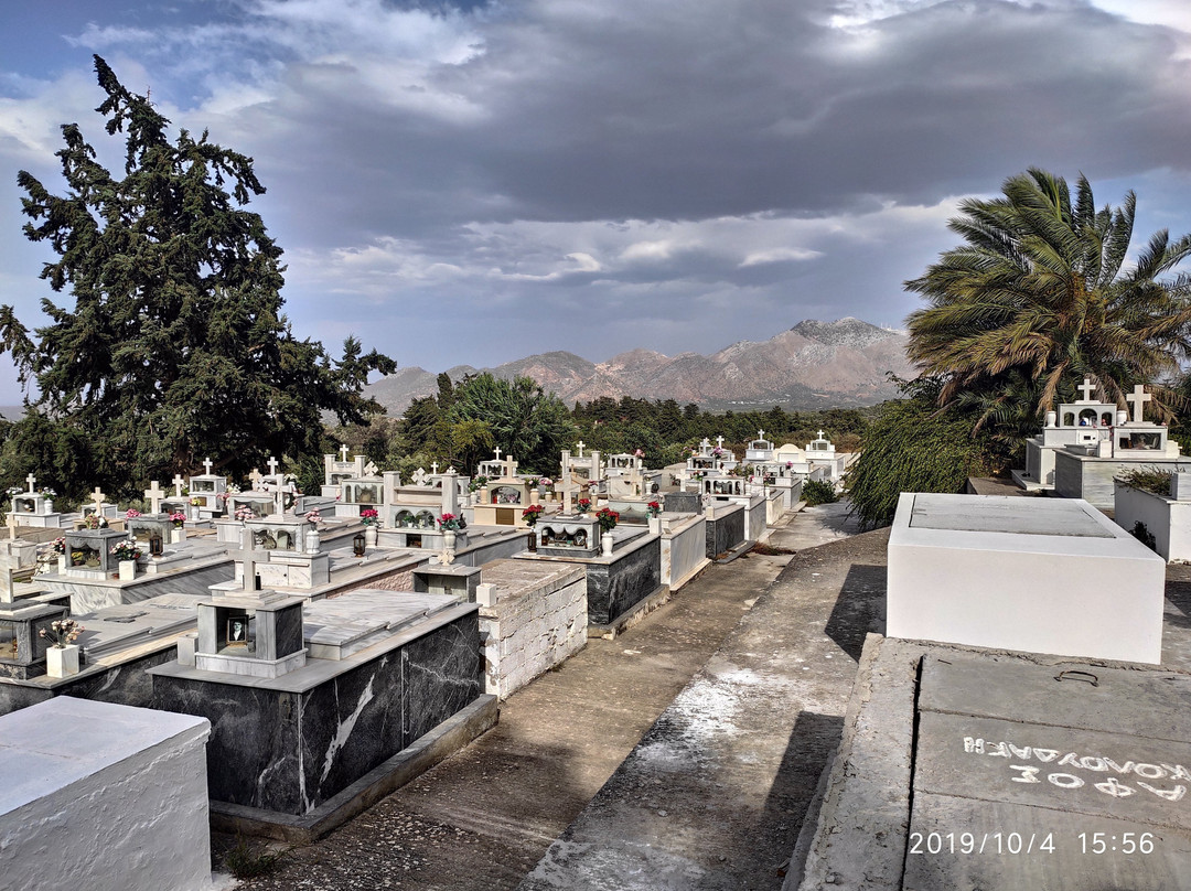
<svg viewBox="0 0 1191 891">
<path fill-rule="evenodd" d="M 860 319 L 807 319 L 768 341 L 741 341 L 711 356 L 665 356 L 634 349 L 597 363 L 559 350 L 479 370 L 504 379 L 532 378 L 568 405 L 632 395 L 696 403 L 710 411 L 773 405 L 815 410 L 872 405 L 896 395 L 887 373 L 913 376 L 905 345 L 905 332 Z M 478 369 L 457 366 L 447 370 L 457 381 Z M 436 376 L 423 368 L 403 368 L 366 392 L 389 415 L 400 415 L 414 398 L 438 392 Z"/>
</svg>

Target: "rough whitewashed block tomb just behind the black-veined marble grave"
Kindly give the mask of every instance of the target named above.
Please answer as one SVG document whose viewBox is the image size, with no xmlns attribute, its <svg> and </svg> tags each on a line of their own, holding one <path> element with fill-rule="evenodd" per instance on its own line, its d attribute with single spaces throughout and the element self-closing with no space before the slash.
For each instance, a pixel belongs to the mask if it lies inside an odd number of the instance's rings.
<svg viewBox="0 0 1191 891">
<path fill-rule="evenodd" d="M 497 580 L 478 593 L 485 688 L 505 699 L 587 643 L 587 574 L 573 563 L 505 560 L 484 578 Z"/>
</svg>

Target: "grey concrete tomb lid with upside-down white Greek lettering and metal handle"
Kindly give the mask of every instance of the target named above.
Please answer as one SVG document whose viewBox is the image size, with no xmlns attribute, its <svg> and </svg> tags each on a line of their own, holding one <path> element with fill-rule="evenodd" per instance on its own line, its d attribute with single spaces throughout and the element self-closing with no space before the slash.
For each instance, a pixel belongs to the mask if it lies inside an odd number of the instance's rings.
<svg viewBox="0 0 1191 891">
<path fill-rule="evenodd" d="M 1186 887 L 1187 705 L 1177 672 L 927 655 L 902 887 Z"/>
</svg>

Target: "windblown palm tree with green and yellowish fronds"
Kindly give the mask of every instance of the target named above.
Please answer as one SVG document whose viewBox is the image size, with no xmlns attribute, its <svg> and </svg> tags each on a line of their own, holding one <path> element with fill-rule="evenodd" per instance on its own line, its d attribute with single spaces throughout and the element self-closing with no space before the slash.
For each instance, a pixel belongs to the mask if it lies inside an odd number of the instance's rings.
<svg viewBox="0 0 1191 891">
<path fill-rule="evenodd" d="M 1035 417 L 1077 380 L 1092 376 L 1103 398 L 1124 407 L 1136 382 L 1171 381 L 1191 356 L 1191 279 L 1171 275 L 1191 253 L 1191 236 L 1155 232 L 1129 267 L 1133 192 L 1097 211 L 1080 175 L 1075 204 L 1067 182 L 1030 169 L 1005 180 L 1004 198 L 967 199 L 948 224 L 965 244 L 905 282 L 930 304 L 910 314 L 910 360 L 942 375 L 940 404 L 978 394 L 984 420 L 1028 400 Z M 1155 387 L 1164 419 L 1179 400 Z"/>
</svg>

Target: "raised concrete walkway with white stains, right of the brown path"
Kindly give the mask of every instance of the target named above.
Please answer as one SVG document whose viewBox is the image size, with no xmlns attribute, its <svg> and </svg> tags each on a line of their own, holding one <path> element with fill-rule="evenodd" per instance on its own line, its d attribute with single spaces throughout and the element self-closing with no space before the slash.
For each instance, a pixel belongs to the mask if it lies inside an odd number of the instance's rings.
<svg viewBox="0 0 1191 891">
<path fill-rule="evenodd" d="M 881 627 L 886 540 L 800 553 L 520 889 L 780 887 Z"/>
</svg>

